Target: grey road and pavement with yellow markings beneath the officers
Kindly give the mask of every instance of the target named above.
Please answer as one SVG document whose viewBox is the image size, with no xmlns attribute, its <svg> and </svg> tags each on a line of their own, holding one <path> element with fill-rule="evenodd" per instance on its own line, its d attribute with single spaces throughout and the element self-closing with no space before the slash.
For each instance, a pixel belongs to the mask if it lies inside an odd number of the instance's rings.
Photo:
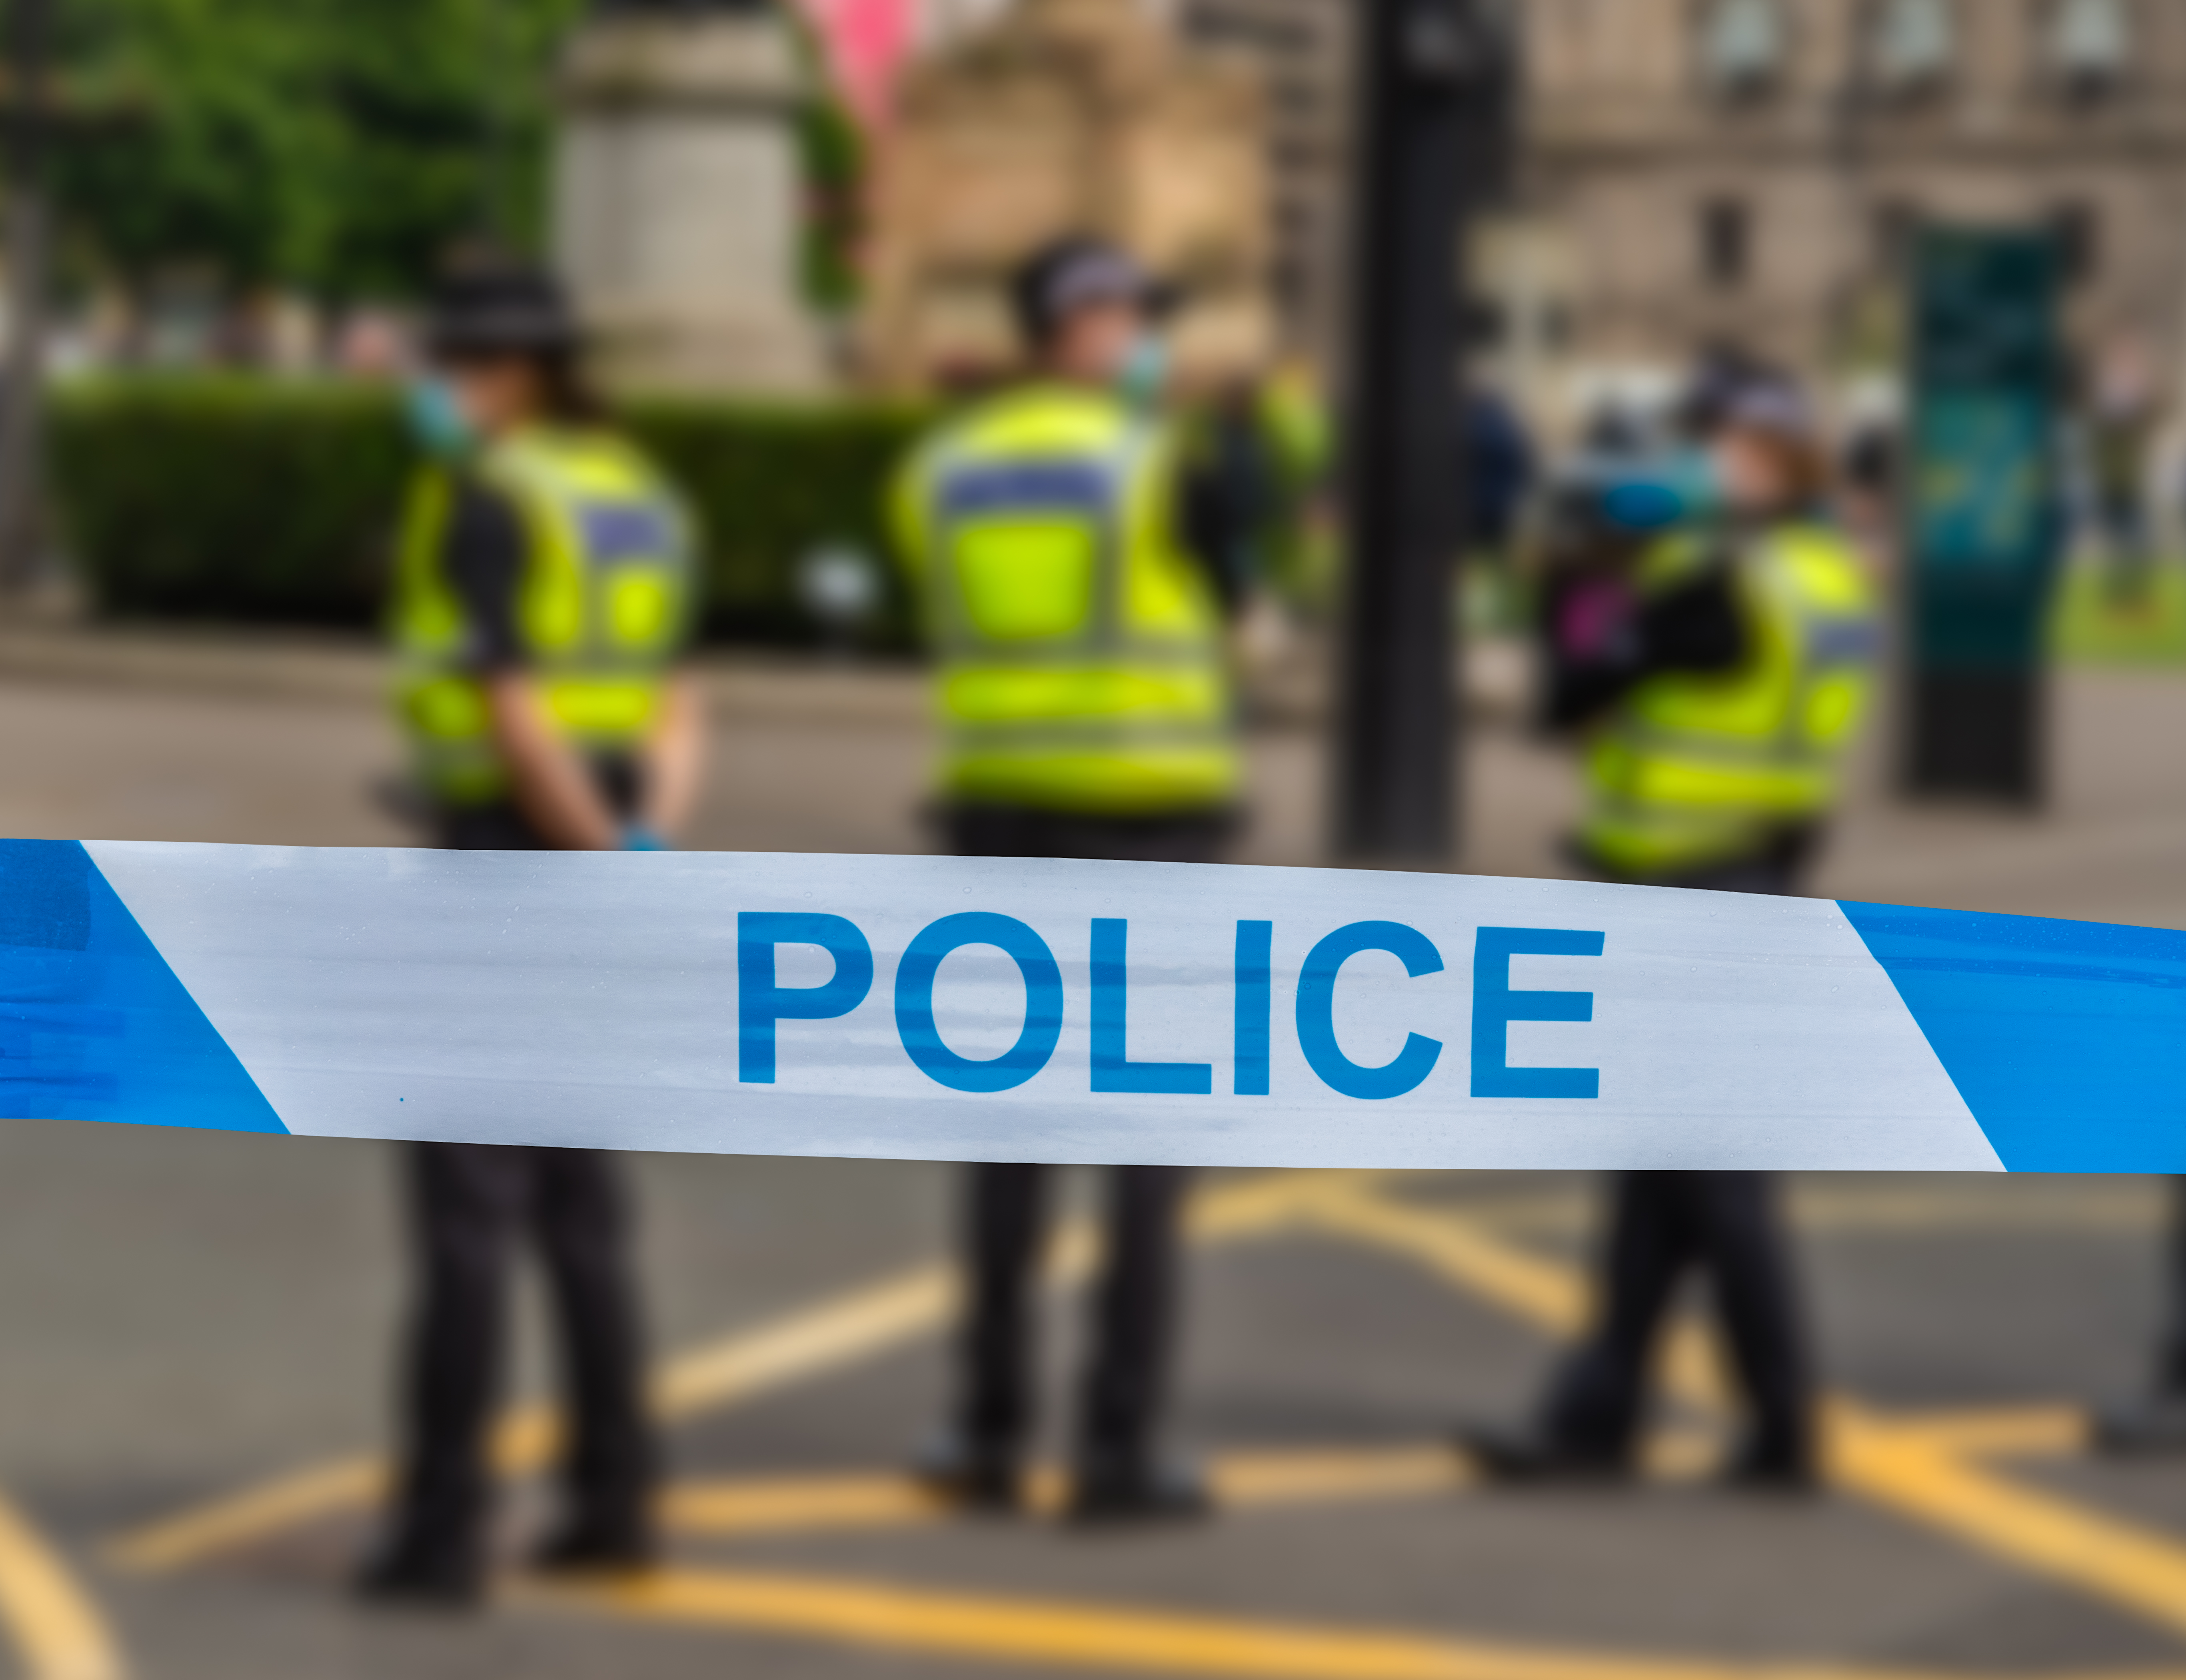
<svg viewBox="0 0 2186 1680">
<path fill-rule="evenodd" d="M 2061 684 L 2042 819 L 1865 797 L 1823 889 L 2186 926 L 2186 682 Z M 0 832 L 400 843 L 374 710 L 328 693 L 0 677 Z M 901 675 L 724 688 L 702 845 L 922 845 Z M 1248 854 L 1318 856 L 1312 732 L 1255 743 Z M 1550 869 L 1561 762 L 1484 727 L 1469 865 Z M 951 1178 L 877 1162 L 638 1158 L 673 1413 L 671 1566 L 472 1619 L 367 1614 L 400 1317 L 389 1151 L 0 1127 L 0 1673 L 1196 1673 L 1329 1680 L 2186 1676 L 2186 1462 L 2090 1459 L 2158 1320 L 2160 1186 L 1793 1186 L 1834 1405 L 1817 1501 L 1712 1488 L 1703 1344 L 1668 1359 L 1657 1475 L 1465 1486 L 1460 1413 L 1524 1405 L 1583 1311 L 1591 1186 L 1237 1175 L 1204 1186 L 1178 1438 L 1226 1514 L 1086 1538 L 944 1523 L 892 1475 L 944 1392 Z M 1058 1254 L 1051 1392 L 1076 1368 Z M 512 1403 L 544 1389 L 527 1313 Z M 538 1442 L 518 1416 L 518 1468 Z M 542 1514 L 505 1501 L 512 1555 Z"/>
</svg>

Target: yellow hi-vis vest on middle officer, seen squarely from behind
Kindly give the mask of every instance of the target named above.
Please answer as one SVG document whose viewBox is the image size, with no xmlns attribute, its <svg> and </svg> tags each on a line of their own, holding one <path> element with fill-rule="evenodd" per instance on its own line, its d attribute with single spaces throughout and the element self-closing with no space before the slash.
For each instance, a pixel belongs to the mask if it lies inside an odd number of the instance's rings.
<svg viewBox="0 0 2186 1680">
<path fill-rule="evenodd" d="M 1091 815 L 1231 804 L 1222 614 L 1172 533 L 1176 446 L 1102 391 L 1030 387 L 896 485 L 940 662 L 942 791 Z"/>
</svg>

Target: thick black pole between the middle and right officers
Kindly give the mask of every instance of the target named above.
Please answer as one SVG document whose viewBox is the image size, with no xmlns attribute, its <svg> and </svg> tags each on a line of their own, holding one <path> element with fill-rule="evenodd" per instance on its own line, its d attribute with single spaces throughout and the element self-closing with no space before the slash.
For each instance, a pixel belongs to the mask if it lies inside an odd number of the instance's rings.
<svg viewBox="0 0 2186 1680">
<path fill-rule="evenodd" d="M 1511 57 L 1482 0 L 1358 15 L 1336 848 L 1436 867 L 1456 841 L 1465 221 L 1508 157 Z"/>
</svg>

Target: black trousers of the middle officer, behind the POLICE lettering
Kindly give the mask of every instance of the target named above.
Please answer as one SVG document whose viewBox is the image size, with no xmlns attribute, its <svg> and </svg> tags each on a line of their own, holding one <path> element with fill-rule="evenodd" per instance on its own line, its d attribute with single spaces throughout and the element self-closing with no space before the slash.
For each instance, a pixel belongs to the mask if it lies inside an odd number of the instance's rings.
<svg viewBox="0 0 2186 1680">
<path fill-rule="evenodd" d="M 947 813 L 947 824 L 957 856 L 1213 863 L 1231 817 L 1117 819 L 960 806 Z M 975 1451 L 1014 1455 L 1032 1429 L 1032 1311 L 1051 1178 L 1049 1167 L 1027 1162 L 971 1169 L 957 1429 Z M 1178 1215 L 1187 1188 L 1189 1171 L 1183 1167 L 1110 1169 L 1108 1245 L 1093 1298 L 1093 1359 L 1078 1416 L 1082 1462 L 1130 1464 L 1152 1451 L 1167 1398 Z"/>
</svg>

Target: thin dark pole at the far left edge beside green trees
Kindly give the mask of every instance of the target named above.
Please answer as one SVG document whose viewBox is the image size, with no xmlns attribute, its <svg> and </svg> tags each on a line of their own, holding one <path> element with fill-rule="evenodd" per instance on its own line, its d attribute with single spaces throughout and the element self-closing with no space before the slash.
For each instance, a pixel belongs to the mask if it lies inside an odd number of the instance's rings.
<svg viewBox="0 0 2186 1680">
<path fill-rule="evenodd" d="M 9 4 L 9 177 L 7 282 L 9 341 L 0 365 L 0 585 L 37 581 L 44 546 L 44 374 L 46 269 L 46 57 L 52 0 Z"/>
</svg>

